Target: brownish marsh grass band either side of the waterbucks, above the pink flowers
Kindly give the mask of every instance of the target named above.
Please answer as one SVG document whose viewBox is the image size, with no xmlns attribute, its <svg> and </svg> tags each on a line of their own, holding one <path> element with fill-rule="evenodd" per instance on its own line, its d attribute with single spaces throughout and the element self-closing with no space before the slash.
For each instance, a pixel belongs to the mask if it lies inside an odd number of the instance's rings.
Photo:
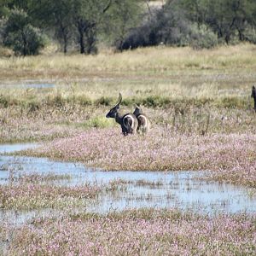
<svg viewBox="0 0 256 256">
<path fill-rule="evenodd" d="M 167 105 L 149 102 L 149 107 L 144 102 L 143 110 L 152 125 L 161 125 L 163 129 L 167 127 L 178 134 L 253 132 L 256 125 L 255 113 L 246 104 L 238 108 L 230 103 L 228 108 L 224 108 L 218 100 L 176 99 Z M 54 103 L 31 102 L 26 107 L 9 105 L 8 108 L 0 108 L 0 142 L 49 141 L 56 137 L 70 137 L 90 128 L 118 127 L 113 119 L 105 118 L 110 108 L 62 102 L 60 97 Z M 124 103 L 120 110 L 131 113 L 134 108 L 135 105 L 126 106 Z"/>
</svg>

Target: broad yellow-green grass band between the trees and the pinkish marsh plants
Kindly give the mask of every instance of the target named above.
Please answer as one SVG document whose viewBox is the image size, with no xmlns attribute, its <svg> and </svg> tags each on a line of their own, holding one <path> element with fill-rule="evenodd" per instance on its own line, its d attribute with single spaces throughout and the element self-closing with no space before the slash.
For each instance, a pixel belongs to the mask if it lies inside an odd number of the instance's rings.
<svg viewBox="0 0 256 256">
<path fill-rule="evenodd" d="M 255 82 L 255 46 L 241 44 L 195 51 L 147 48 L 122 54 L 40 55 L 0 60 L 0 104 L 112 106 L 119 91 L 124 105 L 168 107 L 214 102 L 224 108 L 248 108 Z M 15 80 L 13 80 L 15 78 Z M 53 89 L 21 90 L 12 84 L 51 81 Z M 20 82 L 19 82 L 20 81 Z M 4 89 L 5 88 L 5 89 Z"/>
</svg>

